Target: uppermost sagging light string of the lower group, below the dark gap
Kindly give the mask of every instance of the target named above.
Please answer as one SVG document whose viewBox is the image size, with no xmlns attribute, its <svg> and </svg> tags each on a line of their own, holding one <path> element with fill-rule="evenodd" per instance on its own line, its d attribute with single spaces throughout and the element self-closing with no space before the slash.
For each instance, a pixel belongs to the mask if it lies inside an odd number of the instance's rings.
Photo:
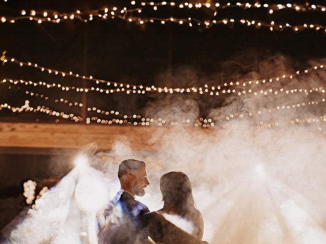
<svg viewBox="0 0 326 244">
<path fill-rule="evenodd" d="M 325 64 L 318 64 L 311 66 L 309 68 L 306 68 L 305 70 L 298 70 L 294 73 L 289 73 L 289 74 L 282 74 L 279 76 L 275 77 L 267 77 L 267 78 L 260 78 L 260 79 L 255 79 L 255 80 L 249 80 L 249 81 L 231 81 L 231 82 L 225 82 L 222 85 L 207 85 L 205 84 L 203 87 L 198 87 L 198 86 L 193 86 L 193 87 L 177 87 L 177 88 L 168 88 L 168 87 L 158 87 L 158 86 L 145 86 L 145 85 L 135 85 L 135 84 L 129 84 L 129 83 L 120 83 L 120 82 L 112 82 L 112 81 L 107 81 L 107 80 L 102 80 L 102 79 L 96 79 L 93 76 L 83 76 L 83 75 L 78 75 L 76 73 L 72 72 L 64 72 L 64 71 L 58 71 L 58 70 L 53 70 L 49 68 L 45 68 L 42 66 L 39 66 L 37 64 L 32 64 L 31 62 L 25 63 L 17 60 L 16 58 L 13 57 L 6 57 L 5 59 L 9 59 L 12 63 L 19 65 L 20 67 L 23 66 L 29 66 L 32 68 L 36 68 L 41 70 L 42 72 L 48 72 L 49 74 L 53 75 L 58 75 L 58 76 L 70 76 L 70 77 L 75 77 L 79 79 L 85 79 L 85 80 L 90 80 L 95 82 L 96 84 L 106 84 L 107 86 L 114 86 L 114 89 L 101 89 L 101 88 L 84 88 L 87 90 L 97 90 L 97 92 L 102 93 L 114 93 L 114 92 L 125 92 L 127 94 L 145 94 L 145 92 L 157 92 L 157 93 L 199 93 L 199 94 L 209 94 L 211 96 L 217 95 L 219 96 L 220 93 L 226 93 L 228 90 L 225 90 L 223 92 L 222 87 L 228 87 L 228 86 L 248 86 L 248 85 L 258 85 L 258 84 L 265 84 L 265 83 L 270 83 L 273 81 L 279 81 L 282 79 L 292 79 L 293 77 L 300 76 L 300 75 L 305 75 L 308 74 L 312 71 L 316 71 L 318 69 L 324 69 L 326 67 Z M 47 84 L 50 85 L 50 84 Z M 59 87 L 63 87 L 61 84 L 59 84 Z M 50 85 L 55 86 L 55 84 Z M 68 89 L 73 89 L 73 86 L 65 86 Z M 83 89 L 80 87 L 77 87 L 79 90 Z M 235 92 L 233 92 L 235 93 Z"/>
</svg>

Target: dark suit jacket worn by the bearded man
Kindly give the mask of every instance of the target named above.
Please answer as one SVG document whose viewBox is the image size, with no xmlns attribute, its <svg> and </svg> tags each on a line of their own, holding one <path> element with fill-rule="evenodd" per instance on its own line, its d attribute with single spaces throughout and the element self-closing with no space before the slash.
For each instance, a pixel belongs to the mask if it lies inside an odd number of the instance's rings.
<svg viewBox="0 0 326 244">
<path fill-rule="evenodd" d="M 97 216 L 99 244 L 145 244 L 148 236 L 166 244 L 197 244 L 199 240 L 176 227 L 127 192 L 120 191 Z"/>
</svg>

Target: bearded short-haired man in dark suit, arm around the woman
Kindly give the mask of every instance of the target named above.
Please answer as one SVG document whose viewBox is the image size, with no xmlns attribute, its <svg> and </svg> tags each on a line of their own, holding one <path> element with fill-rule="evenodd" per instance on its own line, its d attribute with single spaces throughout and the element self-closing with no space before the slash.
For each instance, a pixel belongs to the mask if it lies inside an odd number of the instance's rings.
<svg viewBox="0 0 326 244">
<path fill-rule="evenodd" d="M 144 196 L 149 185 L 143 161 L 128 159 L 119 165 L 121 190 L 107 207 L 97 215 L 100 244 L 146 244 L 148 236 L 166 244 L 207 243 L 176 227 L 146 205 L 136 201 Z"/>
</svg>

